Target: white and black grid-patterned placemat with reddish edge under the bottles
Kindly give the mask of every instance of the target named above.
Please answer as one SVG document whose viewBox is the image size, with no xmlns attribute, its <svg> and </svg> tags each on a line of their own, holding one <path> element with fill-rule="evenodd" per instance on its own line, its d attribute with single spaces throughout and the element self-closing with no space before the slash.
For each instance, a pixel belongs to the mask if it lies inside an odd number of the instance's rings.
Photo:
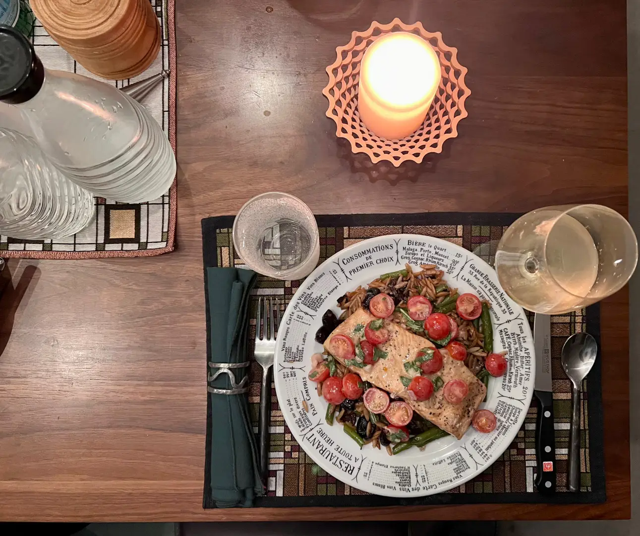
<svg viewBox="0 0 640 536">
<path fill-rule="evenodd" d="M 156 61 L 135 78 L 106 80 L 84 69 L 49 37 L 36 20 L 31 36 L 36 54 L 48 69 L 66 70 L 122 88 L 170 70 L 142 101 L 161 124 L 175 152 L 175 0 L 150 0 L 162 26 L 162 44 Z M 24 134 L 29 134 L 25 131 Z M 54 240 L 19 240 L 0 236 L 0 257 L 25 259 L 93 259 L 97 257 L 141 257 L 173 251 L 176 218 L 176 184 L 162 197 L 141 204 L 116 203 L 95 198 L 95 215 L 83 231 Z"/>
</svg>

